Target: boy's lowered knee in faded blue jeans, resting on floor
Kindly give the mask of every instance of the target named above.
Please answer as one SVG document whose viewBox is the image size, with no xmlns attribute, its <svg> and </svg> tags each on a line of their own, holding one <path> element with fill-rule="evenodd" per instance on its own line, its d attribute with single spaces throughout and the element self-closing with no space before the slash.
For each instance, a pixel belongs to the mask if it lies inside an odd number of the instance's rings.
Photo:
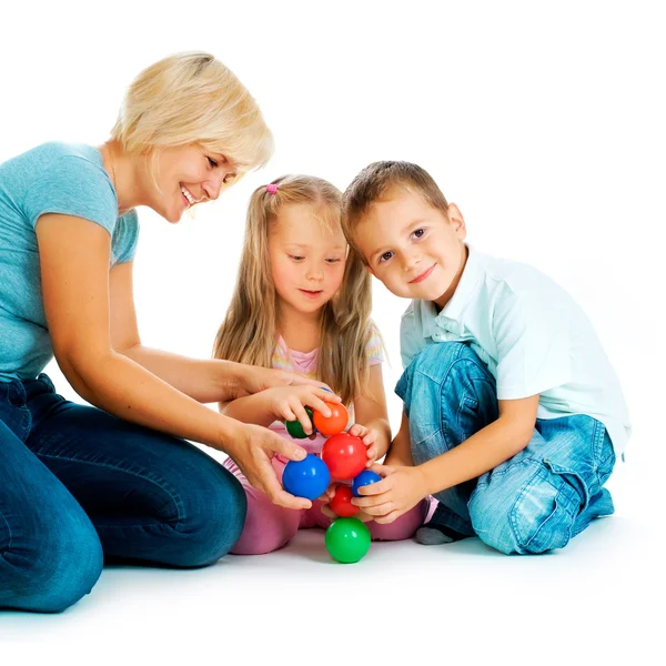
<svg viewBox="0 0 666 666">
<path fill-rule="evenodd" d="M 536 460 L 484 475 L 468 505 L 480 538 L 507 555 L 564 548 L 579 507 L 581 495 L 566 477 Z"/>
</svg>

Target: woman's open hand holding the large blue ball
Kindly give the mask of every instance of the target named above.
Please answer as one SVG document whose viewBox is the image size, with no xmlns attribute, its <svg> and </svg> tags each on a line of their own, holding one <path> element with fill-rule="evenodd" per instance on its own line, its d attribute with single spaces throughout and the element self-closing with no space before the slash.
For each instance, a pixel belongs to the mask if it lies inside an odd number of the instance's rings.
<svg viewBox="0 0 666 666">
<path fill-rule="evenodd" d="M 302 461 L 306 453 L 301 446 L 266 427 L 238 422 L 233 442 L 225 444 L 224 450 L 248 481 L 258 491 L 265 493 L 273 504 L 296 509 L 312 506 L 310 500 L 294 497 L 282 487 L 271 463 L 275 454 L 291 461 Z"/>
</svg>

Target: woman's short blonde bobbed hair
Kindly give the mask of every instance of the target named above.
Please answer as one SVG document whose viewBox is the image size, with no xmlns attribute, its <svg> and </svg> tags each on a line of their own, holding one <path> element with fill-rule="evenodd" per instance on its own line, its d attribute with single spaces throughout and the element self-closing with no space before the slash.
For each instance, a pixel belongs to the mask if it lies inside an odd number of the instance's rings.
<svg viewBox="0 0 666 666">
<path fill-rule="evenodd" d="M 175 53 L 144 69 L 127 91 L 111 137 L 130 152 L 198 143 L 238 167 L 263 167 L 273 135 L 254 98 L 209 53 Z"/>
</svg>

